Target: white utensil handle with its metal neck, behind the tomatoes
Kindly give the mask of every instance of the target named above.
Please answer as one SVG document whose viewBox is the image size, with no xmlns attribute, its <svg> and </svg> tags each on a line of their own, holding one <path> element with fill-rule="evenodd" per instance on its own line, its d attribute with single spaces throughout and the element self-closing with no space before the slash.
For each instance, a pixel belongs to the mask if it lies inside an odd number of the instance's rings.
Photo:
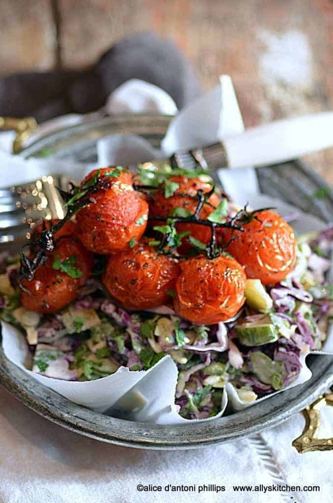
<svg viewBox="0 0 333 503">
<path fill-rule="evenodd" d="M 221 167 L 277 164 L 332 146 L 333 112 L 323 112 L 250 128 L 211 145 L 178 151 L 171 158 L 151 163 L 171 162 L 183 169 L 199 165 L 215 172 Z"/>
</svg>

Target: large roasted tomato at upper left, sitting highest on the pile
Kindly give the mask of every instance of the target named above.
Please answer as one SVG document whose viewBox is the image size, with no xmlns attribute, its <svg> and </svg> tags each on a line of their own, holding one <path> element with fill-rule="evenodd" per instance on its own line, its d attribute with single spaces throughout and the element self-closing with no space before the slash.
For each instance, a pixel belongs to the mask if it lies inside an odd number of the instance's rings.
<svg viewBox="0 0 333 503">
<path fill-rule="evenodd" d="M 79 239 L 86 248 L 101 255 L 127 249 L 130 242 L 141 238 L 147 225 L 148 204 L 133 189 L 132 175 L 121 171 L 119 176 L 106 176 L 114 170 L 115 167 L 100 170 L 100 188 L 91 194 L 96 203 L 76 214 Z M 96 173 L 97 170 L 92 171 L 82 186 Z"/>
</svg>

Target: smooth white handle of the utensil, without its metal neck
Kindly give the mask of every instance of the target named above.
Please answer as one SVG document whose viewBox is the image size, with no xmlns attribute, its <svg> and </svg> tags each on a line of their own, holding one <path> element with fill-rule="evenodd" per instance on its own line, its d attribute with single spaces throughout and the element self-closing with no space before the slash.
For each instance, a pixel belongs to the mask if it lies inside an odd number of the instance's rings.
<svg viewBox="0 0 333 503">
<path fill-rule="evenodd" d="M 224 138 L 228 167 L 267 165 L 333 146 L 333 112 L 272 122 Z"/>
</svg>

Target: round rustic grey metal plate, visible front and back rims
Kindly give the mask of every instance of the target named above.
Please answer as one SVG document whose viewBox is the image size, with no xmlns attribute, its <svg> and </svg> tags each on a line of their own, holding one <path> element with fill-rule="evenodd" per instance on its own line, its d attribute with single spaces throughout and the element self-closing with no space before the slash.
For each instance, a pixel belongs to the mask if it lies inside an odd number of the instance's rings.
<svg viewBox="0 0 333 503">
<path fill-rule="evenodd" d="M 139 134 L 158 146 L 170 122 L 165 116 L 107 117 L 63 129 L 38 139 L 21 156 L 42 157 L 45 152 L 57 159 L 80 162 L 97 160 L 97 139 L 114 133 Z M 292 203 L 303 211 L 331 222 L 333 198 L 311 196 L 326 184 L 300 161 L 258 169 L 262 192 Z M 144 449 L 190 449 L 230 442 L 286 421 L 313 402 L 333 384 L 333 359 L 309 356 L 310 381 L 272 398 L 208 423 L 159 426 L 120 420 L 85 407 L 30 378 L 12 364 L 0 348 L 0 382 L 29 408 L 73 432 L 103 442 Z"/>
</svg>

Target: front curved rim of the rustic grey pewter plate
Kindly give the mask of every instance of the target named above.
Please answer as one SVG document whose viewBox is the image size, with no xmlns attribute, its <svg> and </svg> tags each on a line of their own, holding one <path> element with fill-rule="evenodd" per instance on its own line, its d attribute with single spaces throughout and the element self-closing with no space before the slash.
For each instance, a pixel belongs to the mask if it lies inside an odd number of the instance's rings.
<svg viewBox="0 0 333 503">
<path fill-rule="evenodd" d="M 28 376 L 0 350 L 0 382 L 30 409 L 74 433 L 102 442 L 141 449 L 195 449 L 242 439 L 287 421 L 333 384 L 333 362 L 316 356 L 324 372 L 286 393 L 197 425 L 160 426 L 125 421 L 76 405 Z M 258 410 L 260 411 L 258 413 Z M 292 439 L 291 439 L 292 440 Z"/>
</svg>

